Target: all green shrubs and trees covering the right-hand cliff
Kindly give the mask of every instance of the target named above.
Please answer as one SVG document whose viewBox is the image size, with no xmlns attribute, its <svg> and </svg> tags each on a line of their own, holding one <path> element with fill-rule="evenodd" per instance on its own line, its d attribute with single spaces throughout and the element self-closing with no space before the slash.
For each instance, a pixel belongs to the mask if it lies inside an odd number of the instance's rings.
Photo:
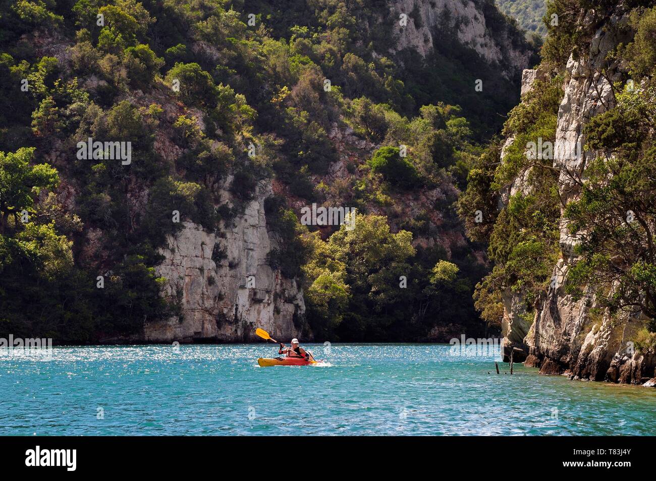
<svg viewBox="0 0 656 481">
<path fill-rule="evenodd" d="M 604 113 L 585 126 L 584 149 L 598 157 L 585 165 L 583 175 L 554 163 L 552 155 L 528 155 L 527 147 L 538 140 L 554 140 L 565 62 L 590 48 L 593 29 L 581 28 L 584 14 L 588 12 L 588 20 L 597 26 L 614 4 L 548 2 L 544 22 L 549 33 L 540 69 L 551 80 L 536 81 L 522 104 L 512 109 L 503 131 L 512 143 L 502 157 L 498 142 L 488 147 L 469 170 L 467 189 L 459 200 L 468 235 L 488 242 L 494 262 L 475 294 L 476 307 L 488 322 L 499 322 L 504 294 L 519 294 L 527 319 L 533 318 L 533 309 L 549 288 L 552 269 L 563 256 L 558 239 L 565 227 L 577 254 L 565 291 L 574 298 L 595 294 L 600 309 L 609 315 L 642 312 L 650 319 L 647 328 L 656 331 L 656 8 L 646 4 L 626 4 L 632 9 L 630 21 L 617 28 L 632 41 L 621 43 L 599 63 L 600 78 L 609 78 L 611 66 L 619 75 L 610 83 L 612 98 L 604 103 Z M 549 22 L 552 14 L 558 16 L 558 26 Z M 573 200 L 561 198 L 559 175 L 580 191 Z M 500 196 L 501 211 L 496 208 Z"/>
</svg>

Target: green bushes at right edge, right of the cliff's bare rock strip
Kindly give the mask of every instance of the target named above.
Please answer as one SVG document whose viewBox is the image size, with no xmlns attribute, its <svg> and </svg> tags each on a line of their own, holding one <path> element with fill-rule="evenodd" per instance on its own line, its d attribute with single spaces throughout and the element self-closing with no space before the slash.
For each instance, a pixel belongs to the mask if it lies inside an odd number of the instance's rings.
<svg viewBox="0 0 656 481">
<path fill-rule="evenodd" d="M 648 87 L 622 92 L 614 109 L 590 121 L 588 144 L 613 156 L 598 157 L 588 166 L 581 199 L 565 210 L 581 256 L 569 277 L 568 291 L 581 296 L 582 287 L 591 284 L 612 313 L 642 311 L 651 319 L 652 332 L 656 332 L 656 142 L 649 125 L 655 115 L 656 88 Z"/>
</svg>

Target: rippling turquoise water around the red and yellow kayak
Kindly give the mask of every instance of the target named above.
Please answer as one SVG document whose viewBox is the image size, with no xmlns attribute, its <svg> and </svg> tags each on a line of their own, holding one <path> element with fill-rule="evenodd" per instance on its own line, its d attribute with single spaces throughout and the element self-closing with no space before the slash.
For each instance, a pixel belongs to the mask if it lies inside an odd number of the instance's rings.
<svg viewBox="0 0 656 481">
<path fill-rule="evenodd" d="M 497 375 L 448 345 L 308 347 L 328 362 L 260 368 L 264 344 L 5 356 L 0 434 L 656 434 L 656 389 Z"/>
</svg>

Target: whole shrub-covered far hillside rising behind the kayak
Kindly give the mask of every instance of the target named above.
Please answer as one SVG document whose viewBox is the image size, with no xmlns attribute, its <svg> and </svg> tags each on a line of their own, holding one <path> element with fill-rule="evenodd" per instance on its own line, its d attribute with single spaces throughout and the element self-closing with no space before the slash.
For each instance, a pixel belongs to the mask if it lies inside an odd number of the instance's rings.
<svg viewBox="0 0 656 481">
<path fill-rule="evenodd" d="M 226 234 L 258 221 L 262 195 L 275 286 L 243 302 L 266 294 L 271 322 L 357 340 L 482 330 L 485 256 L 453 202 L 531 48 L 491 3 L 470 7 L 426 26 L 419 3 L 382 0 L 1 1 L 0 335 L 138 341 L 192 313 L 186 339 L 236 340 L 216 332 L 247 323 L 228 282 L 256 247 L 244 230 L 235 257 Z M 427 53 L 398 47 L 402 15 L 430 28 Z M 475 22 L 486 45 L 459 43 Z M 357 208 L 358 229 L 301 225 L 312 203 Z M 171 252 L 190 229 L 216 238 L 194 274 Z"/>
</svg>

